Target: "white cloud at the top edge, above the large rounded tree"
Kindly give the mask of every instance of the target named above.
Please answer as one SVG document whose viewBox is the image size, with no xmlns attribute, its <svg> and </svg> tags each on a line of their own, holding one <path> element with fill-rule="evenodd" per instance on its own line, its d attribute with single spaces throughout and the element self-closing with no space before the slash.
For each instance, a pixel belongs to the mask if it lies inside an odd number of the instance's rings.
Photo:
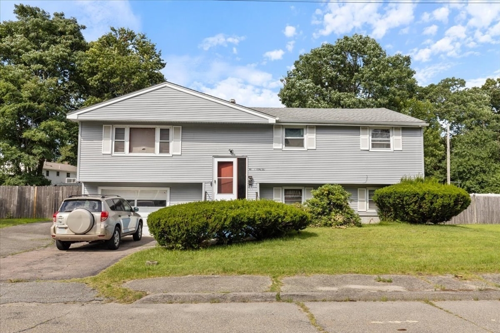
<svg viewBox="0 0 500 333">
<path fill-rule="evenodd" d="M 332 32 L 344 34 L 368 25 L 372 28 L 371 35 L 381 38 L 387 30 L 411 23 L 414 7 L 414 3 L 390 3 L 382 7 L 378 2 L 328 2 L 327 10 L 316 10 L 313 16 L 313 23 L 323 25 L 313 37 L 327 36 Z M 381 8 L 383 11 L 378 12 Z"/>
</svg>

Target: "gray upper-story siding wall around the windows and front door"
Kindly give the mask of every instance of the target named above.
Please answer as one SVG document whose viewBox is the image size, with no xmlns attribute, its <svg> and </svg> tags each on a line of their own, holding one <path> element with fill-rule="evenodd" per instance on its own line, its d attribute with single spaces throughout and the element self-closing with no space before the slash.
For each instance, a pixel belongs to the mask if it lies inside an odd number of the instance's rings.
<svg viewBox="0 0 500 333">
<path fill-rule="evenodd" d="M 259 183 L 365 186 L 423 174 L 420 128 L 402 128 L 401 151 L 360 150 L 358 126 L 316 126 L 315 150 L 285 151 L 272 148 L 272 124 L 181 124 L 181 155 L 113 156 L 102 154 L 102 123 L 80 124 L 82 182 L 205 183 L 211 194 L 213 156 L 230 157 L 229 149 L 248 158 L 249 199 Z"/>
</svg>

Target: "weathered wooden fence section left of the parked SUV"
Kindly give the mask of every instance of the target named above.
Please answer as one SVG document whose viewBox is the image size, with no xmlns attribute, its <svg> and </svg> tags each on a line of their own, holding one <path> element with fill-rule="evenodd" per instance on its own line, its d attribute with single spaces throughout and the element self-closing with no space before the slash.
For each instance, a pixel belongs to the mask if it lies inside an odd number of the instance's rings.
<svg viewBox="0 0 500 333">
<path fill-rule="evenodd" d="M 81 186 L 0 186 L 0 218 L 52 218 L 63 199 Z"/>
</svg>

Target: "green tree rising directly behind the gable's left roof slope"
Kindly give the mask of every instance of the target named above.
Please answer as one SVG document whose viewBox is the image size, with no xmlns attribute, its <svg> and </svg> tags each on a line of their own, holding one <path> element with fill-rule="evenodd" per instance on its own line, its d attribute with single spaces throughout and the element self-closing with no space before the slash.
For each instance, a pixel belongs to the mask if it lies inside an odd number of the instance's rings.
<svg viewBox="0 0 500 333">
<path fill-rule="evenodd" d="M 95 104 L 165 81 L 165 62 L 144 34 L 115 29 L 89 43 L 81 57 L 86 78 L 85 105 Z"/>
</svg>

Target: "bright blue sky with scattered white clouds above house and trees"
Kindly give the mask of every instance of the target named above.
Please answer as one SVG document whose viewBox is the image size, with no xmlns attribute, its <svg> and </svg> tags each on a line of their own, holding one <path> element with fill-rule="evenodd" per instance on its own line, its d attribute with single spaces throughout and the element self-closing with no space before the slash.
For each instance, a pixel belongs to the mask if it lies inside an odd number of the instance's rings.
<svg viewBox="0 0 500 333">
<path fill-rule="evenodd" d="M 349 1 L 349 0 L 348 0 Z M 167 62 L 167 80 L 247 106 L 280 106 L 277 92 L 298 55 L 362 33 L 388 54 L 411 56 L 420 85 L 500 76 L 500 1 L 247 2 L 22 1 L 62 11 L 95 40 L 109 26 L 144 32 Z M 0 0 L 0 19 L 15 19 Z M 435 1 L 434 1 L 435 2 Z M 487 3 L 484 3 L 487 2 Z"/>
</svg>

